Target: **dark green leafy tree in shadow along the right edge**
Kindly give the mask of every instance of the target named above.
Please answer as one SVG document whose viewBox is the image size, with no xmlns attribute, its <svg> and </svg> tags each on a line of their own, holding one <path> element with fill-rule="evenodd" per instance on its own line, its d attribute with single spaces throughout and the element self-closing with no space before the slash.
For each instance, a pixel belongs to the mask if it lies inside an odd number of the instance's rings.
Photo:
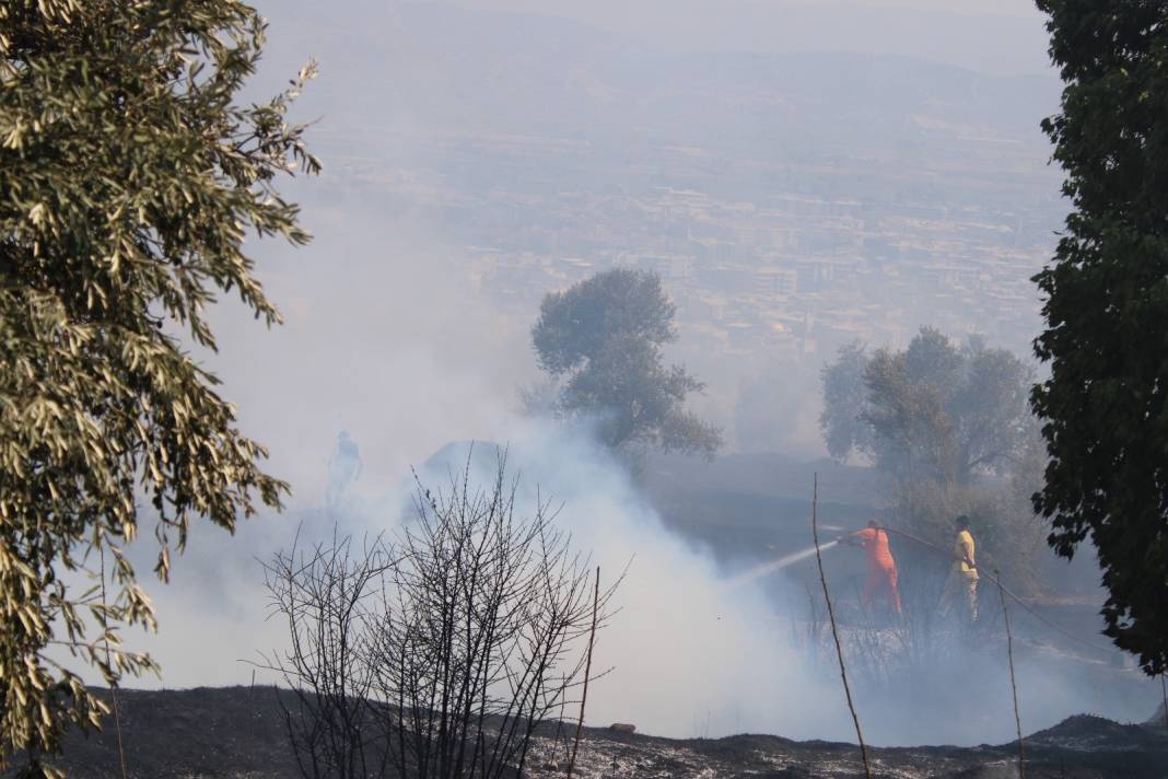
<svg viewBox="0 0 1168 779">
<path fill-rule="evenodd" d="M 1168 670 L 1168 6 L 1040 0 L 1065 83 L 1043 121 L 1073 204 L 1035 276 L 1034 390 L 1050 462 L 1035 508 L 1062 556 L 1090 537 L 1106 634 Z"/>
</svg>

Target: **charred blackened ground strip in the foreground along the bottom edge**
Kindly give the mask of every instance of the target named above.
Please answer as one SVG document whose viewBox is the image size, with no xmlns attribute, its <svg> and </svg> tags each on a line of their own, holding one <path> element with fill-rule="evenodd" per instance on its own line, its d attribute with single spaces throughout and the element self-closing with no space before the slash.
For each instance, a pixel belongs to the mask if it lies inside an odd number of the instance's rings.
<svg viewBox="0 0 1168 779">
<path fill-rule="evenodd" d="M 270 687 L 121 690 L 121 735 L 127 775 L 134 778 L 274 779 L 299 775 L 288 749 L 277 693 Z M 288 695 L 284 693 L 284 695 Z M 1160 721 L 1156 721 L 1160 722 Z M 564 775 L 563 744 L 545 728 L 529 775 Z M 1033 779 L 1163 779 L 1168 731 L 1159 724 L 1122 725 L 1071 717 L 1026 739 Z M 70 777 L 120 777 L 112 722 L 70 737 L 58 761 Z M 1017 745 L 913 746 L 870 750 L 874 777 L 997 779 L 1017 775 Z M 12 775 L 11 772 L 0 774 Z M 862 777 L 851 744 L 793 742 L 743 735 L 669 739 L 585 729 L 577 777 L 708 777 L 809 779 Z"/>
</svg>

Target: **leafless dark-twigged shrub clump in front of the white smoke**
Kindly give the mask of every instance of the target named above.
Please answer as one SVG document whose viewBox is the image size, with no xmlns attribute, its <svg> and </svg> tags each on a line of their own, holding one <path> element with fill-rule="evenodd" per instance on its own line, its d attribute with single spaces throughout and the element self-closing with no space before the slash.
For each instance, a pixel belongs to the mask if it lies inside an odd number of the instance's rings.
<svg viewBox="0 0 1168 779">
<path fill-rule="evenodd" d="M 445 491 L 418 481 L 391 543 L 267 566 L 291 637 L 267 665 L 298 690 L 303 775 L 522 774 L 538 725 L 579 702 L 593 610 L 603 627 L 619 579 L 595 594 L 549 503 L 520 516 L 505 458 L 486 488 L 470 462 Z"/>
</svg>

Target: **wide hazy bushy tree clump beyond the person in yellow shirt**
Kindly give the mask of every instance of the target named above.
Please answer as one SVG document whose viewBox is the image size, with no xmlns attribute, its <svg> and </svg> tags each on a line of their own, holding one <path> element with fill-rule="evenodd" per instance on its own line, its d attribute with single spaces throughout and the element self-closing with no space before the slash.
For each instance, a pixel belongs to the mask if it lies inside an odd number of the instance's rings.
<svg viewBox="0 0 1168 779">
<path fill-rule="evenodd" d="M 871 355 L 851 343 L 822 378 L 832 455 L 865 454 L 902 480 L 964 485 L 1007 471 L 1031 424 L 1029 368 L 975 336 L 959 347 L 925 327 L 903 352 Z"/>
</svg>

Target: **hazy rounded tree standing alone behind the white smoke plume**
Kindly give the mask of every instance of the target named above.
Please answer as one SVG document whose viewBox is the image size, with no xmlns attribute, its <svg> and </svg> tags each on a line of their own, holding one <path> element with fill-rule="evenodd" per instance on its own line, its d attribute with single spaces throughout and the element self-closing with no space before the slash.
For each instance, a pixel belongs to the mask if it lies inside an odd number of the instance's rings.
<svg viewBox="0 0 1168 779">
<path fill-rule="evenodd" d="M 595 417 L 613 450 L 659 447 L 712 457 L 719 431 L 683 409 L 703 384 L 661 348 L 676 308 L 655 273 L 614 269 L 550 292 L 531 328 L 540 367 L 561 382 L 556 409 Z"/>
</svg>

